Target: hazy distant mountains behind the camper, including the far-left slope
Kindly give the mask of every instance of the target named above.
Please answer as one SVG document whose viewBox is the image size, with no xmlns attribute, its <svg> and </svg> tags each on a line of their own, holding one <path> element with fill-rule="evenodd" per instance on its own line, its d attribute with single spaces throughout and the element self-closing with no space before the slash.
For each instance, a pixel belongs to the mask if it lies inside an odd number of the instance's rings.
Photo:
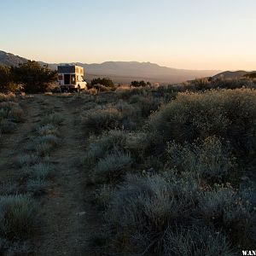
<svg viewBox="0 0 256 256">
<path fill-rule="evenodd" d="M 26 62 L 26 58 L 0 51 L 0 65 L 17 66 Z M 39 61 L 41 64 L 45 62 Z M 130 84 L 132 80 L 146 80 L 159 82 L 161 84 L 173 84 L 183 81 L 203 78 L 216 75 L 216 70 L 187 70 L 171 67 L 160 67 L 150 62 L 137 61 L 107 61 L 102 64 L 85 64 L 77 62 L 77 65 L 84 67 L 85 79 L 90 81 L 97 77 L 108 77 L 114 83 Z M 56 68 L 58 63 L 49 64 L 49 67 Z"/>
</svg>

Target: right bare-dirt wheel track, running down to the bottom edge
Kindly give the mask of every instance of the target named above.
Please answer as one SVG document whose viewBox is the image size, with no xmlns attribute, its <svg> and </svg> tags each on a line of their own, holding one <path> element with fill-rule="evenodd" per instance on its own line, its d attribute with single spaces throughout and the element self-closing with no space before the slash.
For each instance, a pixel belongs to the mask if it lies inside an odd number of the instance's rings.
<svg viewBox="0 0 256 256">
<path fill-rule="evenodd" d="M 68 99 L 49 96 L 49 103 L 65 120 L 61 146 L 51 154 L 55 177 L 41 204 L 43 223 L 36 255 L 89 255 L 84 252 L 96 221 L 85 195 L 85 173 L 78 164 L 84 152 L 83 135 L 79 125 L 73 123 L 75 109 Z"/>
</svg>

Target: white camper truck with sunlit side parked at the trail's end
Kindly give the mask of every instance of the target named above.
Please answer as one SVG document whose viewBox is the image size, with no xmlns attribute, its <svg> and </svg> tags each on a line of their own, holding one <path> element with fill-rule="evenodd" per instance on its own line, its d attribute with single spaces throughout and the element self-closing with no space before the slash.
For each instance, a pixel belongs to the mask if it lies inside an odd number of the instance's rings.
<svg viewBox="0 0 256 256">
<path fill-rule="evenodd" d="M 58 82 L 61 86 L 61 92 L 86 90 L 84 67 L 77 65 L 58 66 Z"/>
</svg>

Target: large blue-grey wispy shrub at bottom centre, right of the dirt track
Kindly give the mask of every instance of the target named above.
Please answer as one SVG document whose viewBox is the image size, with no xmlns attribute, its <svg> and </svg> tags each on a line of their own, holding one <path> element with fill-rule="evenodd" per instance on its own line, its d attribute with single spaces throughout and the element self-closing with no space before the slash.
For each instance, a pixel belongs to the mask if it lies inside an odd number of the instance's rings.
<svg viewBox="0 0 256 256">
<path fill-rule="evenodd" d="M 166 228 L 189 221 L 195 188 L 196 184 L 185 182 L 172 186 L 160 176 L 128 176 L 113 191 L 106 213 L 108 228 L 115 230 L 109 241 L 111 253 L 161 255 Z"/>
</svg>

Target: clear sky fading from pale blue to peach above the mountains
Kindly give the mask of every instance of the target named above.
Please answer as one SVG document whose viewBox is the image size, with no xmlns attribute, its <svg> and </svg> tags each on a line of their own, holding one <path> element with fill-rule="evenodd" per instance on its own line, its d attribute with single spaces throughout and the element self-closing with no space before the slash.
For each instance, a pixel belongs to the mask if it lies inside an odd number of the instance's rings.
<svg viewBox="0 0 256 256">
<path fill-rule="evenodd" d="M 45 62 L 256 69 L 256 0 L 0 0 L 0 49 Z"/>
</svg>

